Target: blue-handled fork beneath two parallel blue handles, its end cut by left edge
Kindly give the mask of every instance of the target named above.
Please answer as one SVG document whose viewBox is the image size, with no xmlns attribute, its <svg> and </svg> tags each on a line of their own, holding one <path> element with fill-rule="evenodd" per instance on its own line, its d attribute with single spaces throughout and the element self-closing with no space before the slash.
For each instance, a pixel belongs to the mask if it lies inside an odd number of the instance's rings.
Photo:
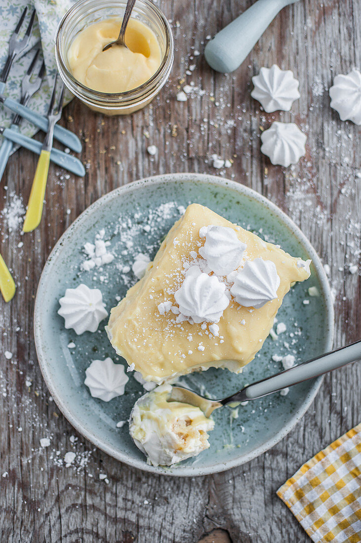
<svg viewBox="0 0 361 543">
<path fill-rule="evenodd" d="M 41 81 L 43 78 L 43 75 L 45 73 L 45 64 L 42 62 L 42 65 L 40 67 L 39 73 L 37 74 L 36 78 L 32 78 L 35 64 L 37 61 L 37 58 L 39 57 L 40 49 L 36 49 L 35 55 L 33 60 L 31 61 L 31 64 L 28 68 L 28 71 L 23 78 L 21 82 L 21 98 L 20 103 L 23 105 L 26 105 L 29 102 L 29 99 L 33 94 L 40 89 Z M 14 115 L 12 118 L 11 123 L 11 129 L 12 130 L 18 130 L 18 125 L 21 122 L 20 115 Z M 0 147 L 0 179 L 3 176 L 5 167 L 8 163 L 9 156 L 11 154 L 12 148 L 14 147 L 14 143 L 9 140 L 8 138 L 4 138 L 4 141 Z"/>
</svg>

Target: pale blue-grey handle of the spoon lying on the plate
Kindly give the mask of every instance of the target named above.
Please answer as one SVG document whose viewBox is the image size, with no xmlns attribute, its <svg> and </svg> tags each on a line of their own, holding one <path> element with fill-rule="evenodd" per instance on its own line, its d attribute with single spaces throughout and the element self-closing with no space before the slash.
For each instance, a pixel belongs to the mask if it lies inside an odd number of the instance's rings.
<svg viewBox="0 0 361 543">
<path fill-rule="evenodd" d="M 254 400 L 277 390 L 282 390 L 292 386 L 293 384 L 307 381 L 319 375 L 325 374 L 328 371 L 341 368 L 351 362 L 356 362 L 361 359 L 361 341 L 347 345 L 336 351 L 328 352 L 318 358 L 314 358 L 304 364 L 282 371 L 280 374 L 268 377 L 258 383 L 251 384 L 246 387 L 243 392 L 246 398 Z"/>
</svg>

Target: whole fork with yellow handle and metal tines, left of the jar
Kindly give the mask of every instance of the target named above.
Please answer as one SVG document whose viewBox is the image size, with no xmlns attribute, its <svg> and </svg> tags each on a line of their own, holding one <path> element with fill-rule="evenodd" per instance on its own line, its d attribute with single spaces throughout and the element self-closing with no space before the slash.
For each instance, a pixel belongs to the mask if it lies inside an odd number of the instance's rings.
<svg viewBox="0 0 361 543">
<path fill-rule="evenodd" d="M 62 103 L 64 100 L 65 92 L 65 85 L 61 82 L 58 108 L 55 108 L 55 96 L 56 87 L 58 86 L 58 77 L 59 74 L 57 73 L 55 76 L 53 93 L 50 99 L 48 110 L 49 127 L 45 136 L 44 143 L 42 145 L 39 160 L 37 162 L 33 185 L 31 186 L 28 209 L 23 225 L 24 232 L 31 232 L 35 230 L 35 228 L 39 225 L 41 221 L 46 183 L 48 179 L 50 151 L 53 147 L 54 127 L 61 117 Z"/>
</svg>

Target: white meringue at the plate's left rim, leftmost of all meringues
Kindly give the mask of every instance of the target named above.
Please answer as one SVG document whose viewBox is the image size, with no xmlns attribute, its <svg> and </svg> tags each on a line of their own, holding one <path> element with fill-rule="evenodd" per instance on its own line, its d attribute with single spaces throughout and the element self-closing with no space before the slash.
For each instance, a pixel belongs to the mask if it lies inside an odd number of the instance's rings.
<svg viewBox="0 0 361 543">
<path fill-rule="evenodd" d="M 67 288 L 59 300 L 58 314 L 64 318 L 66 329 L 72 328 L 80 336 L 96 332 L 100 321 L 107 317 L 103 295 L 98 288 L 81 283 L 77 288 Z"/>
</svg>

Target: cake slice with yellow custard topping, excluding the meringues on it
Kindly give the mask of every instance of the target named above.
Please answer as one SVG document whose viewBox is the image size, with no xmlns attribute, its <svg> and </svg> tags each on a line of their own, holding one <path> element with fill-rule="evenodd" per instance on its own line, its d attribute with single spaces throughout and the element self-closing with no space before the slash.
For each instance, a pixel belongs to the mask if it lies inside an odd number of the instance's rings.
<svg viewBox="0 0 361 543">
<path fill-rule="evenodd" d="M 241 266 L 256 258 L 272 262 L 280 279 L 278 287 L 273 285 L 276 298 L 265 301 L 259 308 L 239 305 L 229 289 L 242 267 L 227 277 L 212 273 L 200 254 L 206 241 L 200 236 L 204 226 L 224 226 L 235 233 L 239 242 L 246 245 Z M 203 233 L 204 230 L 201 235 Z M 217 325 L 214 321 L 211 323 L 211 319 L 195 323 L 180 318 L 180 308 L 185 310 L 184 299 L 178 298 L 177 302 L 175 294 L 180 292 L 187 270 L 193 266 L 208 274 L 214 282 L 223 281 L 228 287 L 224 292 L 229 295 L 229 303 L 223 308 Z M 192 204 L 168 232 L 144 277 L 111 310 L 107 332 L 118 355 L 129 365 L 134 363 L 135 369 L 147 381 L 162 383 L 210 367 L 239 372 L 261 349 L 290 286 L 308 277 L 309 263 L 264 242 L 207 207 Z M 199 315 L 200 318 L 207 316 L 210 315 Z M 214 312 L 212 318 L 215 318 Z"/>
</svg>

